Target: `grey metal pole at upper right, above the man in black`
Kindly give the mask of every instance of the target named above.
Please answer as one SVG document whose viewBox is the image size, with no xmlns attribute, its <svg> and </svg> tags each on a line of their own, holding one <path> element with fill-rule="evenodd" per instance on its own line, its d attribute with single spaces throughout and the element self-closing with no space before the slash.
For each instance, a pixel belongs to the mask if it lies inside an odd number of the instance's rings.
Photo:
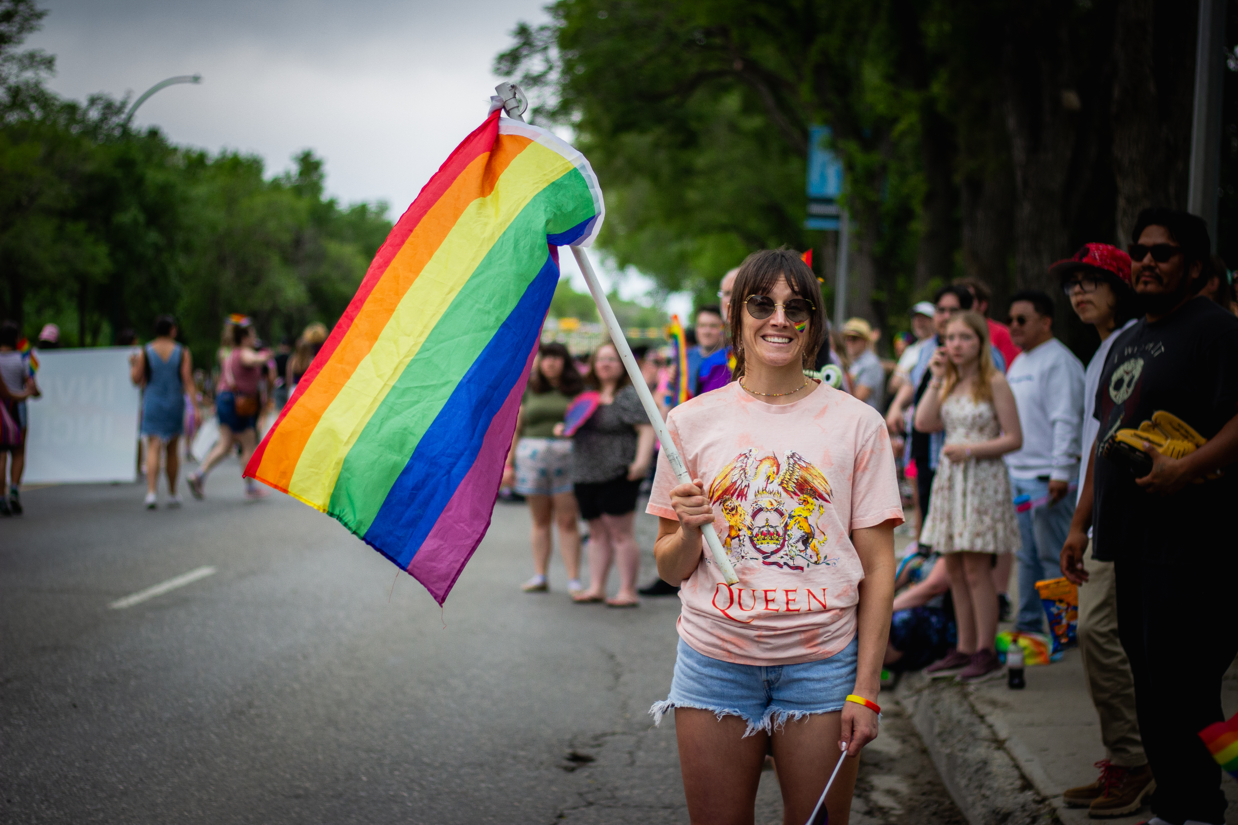
<svg viewBox="0 0 1238 825">
<path fill-rule="evenodd" d="M 1217 188 L 1221 186 L 1221 88 L 1224 83 L 1226 0 L 1200 0 L 1195 43 L 1195 113 L 1191 122 L 1191 184 L 1187 212 L 1208 221 L 1217 249 Z"/>
</svg>

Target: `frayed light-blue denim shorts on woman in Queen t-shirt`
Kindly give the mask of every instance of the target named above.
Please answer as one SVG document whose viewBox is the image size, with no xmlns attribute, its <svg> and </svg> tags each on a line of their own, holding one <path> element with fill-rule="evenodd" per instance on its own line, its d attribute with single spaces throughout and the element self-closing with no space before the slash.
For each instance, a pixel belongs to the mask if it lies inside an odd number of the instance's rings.
<svg viewBox="0 0 1238 825">
<path fill-rule="evenodd" d="M 739 716 L 748 722 L 744 736 L 770 733 L 787 719 L 842 710 L 847 694 L 855 689 L 858 652 L 857 636 L 828 659 L 765 667 L 712 659 L 681 638 L 671 694 L 649 712 L 657 725 L 673 707 L 697 707 L 718 719 Z"/>
</svg>

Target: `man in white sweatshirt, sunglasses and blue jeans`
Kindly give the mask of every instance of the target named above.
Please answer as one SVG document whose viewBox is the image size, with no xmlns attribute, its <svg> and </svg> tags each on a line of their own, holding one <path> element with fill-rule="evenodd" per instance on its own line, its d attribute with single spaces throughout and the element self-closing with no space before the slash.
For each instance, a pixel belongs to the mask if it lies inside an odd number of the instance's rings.
<svg viewBox="0 0 1238 825">
<path fill-rule="evenodd" d="M 1005 456 L 1023 537 L 1015 630 L 1042 633 L 1036 583 L 1061 576 L 1060 555 L 1075 515 L 1083 364 L 1054 338 L 1054 299 L 1044 292 L 1010 297 L 1010 338 L 1023 350 L 1006 371 L 1023 428 L 1023 449 Z"/>
</svg>

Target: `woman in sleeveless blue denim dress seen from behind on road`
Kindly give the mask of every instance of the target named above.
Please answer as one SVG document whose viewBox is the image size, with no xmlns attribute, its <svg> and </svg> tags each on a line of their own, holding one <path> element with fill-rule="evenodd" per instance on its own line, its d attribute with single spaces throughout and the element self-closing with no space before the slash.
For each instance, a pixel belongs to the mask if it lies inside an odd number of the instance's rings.
<svg viewBox="0 0 1238 825">
<path fill-rule="evenodd" d="M 176 492 L 181 458 L 177 450 L 184 433 L 184 401 L 197 395 L 193 385 L 193 357 L 176 341 L 176 319 L 155 319 L 155 340 L 130 361 L 129 377 L 142 388 L 142 427 L 146 439 L 146 505 L 158 507 L 158 460 L 165 455 L 168 507 L 180 507 Z"/>
</svg>

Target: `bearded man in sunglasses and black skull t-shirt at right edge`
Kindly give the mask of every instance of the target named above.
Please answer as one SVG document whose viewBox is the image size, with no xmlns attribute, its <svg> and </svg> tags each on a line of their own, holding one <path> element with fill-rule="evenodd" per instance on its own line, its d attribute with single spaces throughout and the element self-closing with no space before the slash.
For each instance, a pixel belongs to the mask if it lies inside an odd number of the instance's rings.
<svg viewBox="0 0 1238 825">
<path fill-rule="evenodd" d="M 1238 318 L 1196 297 L 1210 250 L 1203 220 L 1145 209 L 1133 241 L 1144 317 L 1113 344 L 1101 374 L 1096 453 L 1062 571 L 1076 584 L 1088 580 L 1091 526 L 1093 557 L 1114 563 L 1118 635 L 1156 780 L 1150 823 L 1219 825 L 1221 769 L 1198 732 L 1223 719 L 1221 679 L 1238 653 L 1238 553 L 1228 519 L 1238 492 Z M 1170 458 L 1145 442 L 1151 469 L 1136 470 L 1138 456 L 1112 439 L 1118 429 L 1151 427 L 1154 416 L 1180 442 L 1202 444 Z"/>
</svg>

